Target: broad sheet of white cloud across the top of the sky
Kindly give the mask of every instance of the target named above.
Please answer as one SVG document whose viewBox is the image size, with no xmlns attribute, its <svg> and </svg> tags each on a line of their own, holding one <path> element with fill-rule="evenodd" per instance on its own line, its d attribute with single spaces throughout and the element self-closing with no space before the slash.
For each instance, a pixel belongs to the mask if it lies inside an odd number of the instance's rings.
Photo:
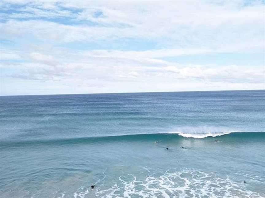
<svg viewBox="0 0 265 198">
<path fill-rule="evenodd" d="M 30 7 L 38 5 L 38 8 Z M 41 40 L 59 42 L 101 39 L 152 39 L 170 48 L 242 51 L 260 49 L 264 42 L 264 5 L 242 6 L 240 2 L 222 5 L 197 1 L 175 2 L 86 2 L 62 1 L 51 9 L 45 4 L 21 8 L 26 17 L 71 17 L 94 22 L 96 26 L 65 25 L 44 20 L 9 20 L 2 31 L 15 35 L 32 35 Z M 36 6 L 35 5 L 35 6 Z M 44 7 L 41 7 L 44 6 Z M 59 7 L 60 6 L 60 7 Z M 67 9 L 80 9 L 73 13 Z M 43 9 L 40 9 L 43 8 Z M 100 16 L 95 16 L 102 13 Z M 7 16 L 8 17 L 8 16 Z M 21 16 L 22 17 L 22 16 Z M 89 23 L 88 23 L 89 24 Z M 177 46 L 177 47 L 173 47 Z"/>
</svg>

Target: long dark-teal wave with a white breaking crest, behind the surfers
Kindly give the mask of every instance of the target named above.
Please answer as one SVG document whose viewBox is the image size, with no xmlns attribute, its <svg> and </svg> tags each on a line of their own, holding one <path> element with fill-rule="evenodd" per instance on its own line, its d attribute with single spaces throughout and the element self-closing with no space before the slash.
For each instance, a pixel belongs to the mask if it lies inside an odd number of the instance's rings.
<svg viewBox="0 0 265 198">
<path fill-rule="evenodd" d="M 33 146 L 33 145 L 69 145 L 69 144 L 97 144 L 104 142 L 115 141 L 174 141 L 181 138 L 213 138 L 229 140 L 231 138 L 245 139 L 245 140 L 265 140 L 265 132 L 229 132 L 225 134 L 183 134 L 183 133 L 159 133 L 159 134 L 128 134 L 117 136 L 98 136 L 98 137 L 81 137 L 69 139 L 47 139 L 47 140 L 30 140 L 30 141 L 0 141 L 0 149 L 8 146 Z M 260 139 L 261 138 L 261 139 Z"/>
</svg>

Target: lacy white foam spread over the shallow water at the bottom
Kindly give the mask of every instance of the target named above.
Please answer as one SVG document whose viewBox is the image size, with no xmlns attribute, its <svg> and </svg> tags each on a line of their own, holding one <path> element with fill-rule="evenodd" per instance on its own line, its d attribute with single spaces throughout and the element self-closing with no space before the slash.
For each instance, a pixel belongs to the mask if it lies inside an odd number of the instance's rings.
<svg viewBox="0 0 265 198">
<path fill-rule="evenodd" d="M 56 191 L 50 198 L 265 198 L 260 189 L 247 188 L 244 182 L 236 182 L 215 172 L 205 173 L 195 169 L 165 172 L 141 170 L 140 174 L 125 174 L 117 178 L 103 177 L 96 188 L 82 186 L 74 194 Z M 237 173 L 235 173 L 237 174 Z M 242 173 L 238 173 L 242 174 Z M 104 173 L 105 175 L 105 173 Z M 252 184 L 264 186 L 264 178 L 244 174 Z M 35 197 L 35 196 L 34 196 Z M 38 197 L 38 196 L 36 196 Z"/>
</svg>

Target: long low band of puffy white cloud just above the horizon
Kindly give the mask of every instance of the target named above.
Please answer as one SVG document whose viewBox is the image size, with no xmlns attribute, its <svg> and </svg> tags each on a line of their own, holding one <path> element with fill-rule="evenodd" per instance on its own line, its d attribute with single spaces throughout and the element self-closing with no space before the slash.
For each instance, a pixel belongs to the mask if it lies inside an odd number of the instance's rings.
<svg viewBox="0 0 265 198">
<path fill-rule="evenodd" d="M 70 56 L 70 55 L 69 55 Z M 72 55 L 73 57 L 75 55 Z M 61 63 L 44 64 L 45 56 L 34 53 L 40 63 L 9 64 L 8 67 L 20 68 L 22 73 L 12 73 L 13 78 L 31 80 L 64 80 L 64 79 L 102 79 L 108 81 L 139 81 L 151 83 L 176 81 L 189 82 L 231 82 L 231 83 L 264 83 L 265 69 L 256 67 L 250 70 L 242 65 L 191 65 L 163 61 L 162 63 L 141 62 L 137 59 L 78 57 L 74 62 L 61 60 Z M 60 62 L 60 61 L 59 61 Z"/>
</svg>

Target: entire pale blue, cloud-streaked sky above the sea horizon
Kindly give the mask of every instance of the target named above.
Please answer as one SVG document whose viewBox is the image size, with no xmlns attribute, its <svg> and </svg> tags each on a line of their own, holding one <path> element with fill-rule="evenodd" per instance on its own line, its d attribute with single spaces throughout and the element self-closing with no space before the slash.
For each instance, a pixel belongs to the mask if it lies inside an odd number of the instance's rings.
<svg viewBox="0 0 265 198">
<path fill-rule="evenodd" d="M 0 95 L 265 89 L 264 55 L 264 0 L 0 0 Z"/>
</svg>

